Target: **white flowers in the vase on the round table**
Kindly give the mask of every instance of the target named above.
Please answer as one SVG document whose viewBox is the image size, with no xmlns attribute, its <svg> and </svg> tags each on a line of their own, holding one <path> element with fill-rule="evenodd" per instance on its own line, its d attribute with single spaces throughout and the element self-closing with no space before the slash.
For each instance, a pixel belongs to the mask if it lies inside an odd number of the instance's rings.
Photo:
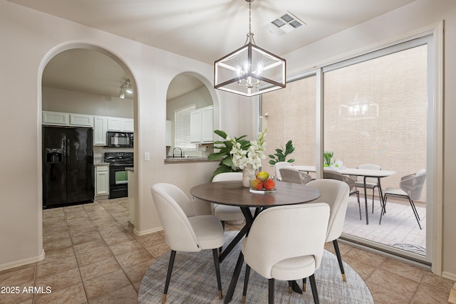
<svg viewBox="0 0 456 304">
<path fill-rule="evenodd" d="M 266 130 L 258 133 L 257 140 L 250 141 L 250 145 L 247 150 L 243 150 L 241 144 L 232 137 L 227 137 L 227 140 L 233 143 L 233 147 L 230 154 L 232 154 L 233 164 L 239 169 L 244 169 L 248 165 L 251 165 L 253 169 L 261 167 L 261 159 L 266 159 L 264 154 L 264 148 L 266 142 L 264 137 L 266 136 Z"/>
</svg>

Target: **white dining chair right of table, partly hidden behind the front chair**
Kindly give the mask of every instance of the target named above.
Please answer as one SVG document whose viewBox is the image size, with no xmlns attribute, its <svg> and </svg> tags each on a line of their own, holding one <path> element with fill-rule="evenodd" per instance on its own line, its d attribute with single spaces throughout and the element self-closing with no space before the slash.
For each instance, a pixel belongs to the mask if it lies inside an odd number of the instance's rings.
<svg viewBox="0 0 456 304">
<path fill-rule="evenodd" d="M 328 232 L 326 234 L 326 242 L 332 241 L 334 251 L 336 251 L 337 261 L 339 268 L 341 268 L 342 279 L 347 281 L 345 271 L 343 270 L 341 251 L 337 239 L 342 234 L 343 223 L 347 212 L 348 195 L 350 189 L 346 182 L 341 182 L 336 179 L 316 179 L 307 184 L 309 187 L 318 189 L 321 196 L 314 202 L 324 202 L 329 205 L 331 209 L 331 216 L 329 217 Z M 306 289 L 306 279 L 303 280 L 303 289 Z"/>
</svg>

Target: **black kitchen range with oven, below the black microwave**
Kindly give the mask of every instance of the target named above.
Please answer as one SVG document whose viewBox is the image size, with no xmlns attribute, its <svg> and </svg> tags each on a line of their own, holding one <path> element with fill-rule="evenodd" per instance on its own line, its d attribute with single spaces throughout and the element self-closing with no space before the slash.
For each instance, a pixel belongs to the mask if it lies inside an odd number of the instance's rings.
<svg viewBox="0 0 456 304">
<path fill-rule="evenodd" d="M 128 196 L 128 171 L 133 167 L 133 152 L 106 152 L 105 162 L 109 163 L 109 198 Z"/>
</svg>

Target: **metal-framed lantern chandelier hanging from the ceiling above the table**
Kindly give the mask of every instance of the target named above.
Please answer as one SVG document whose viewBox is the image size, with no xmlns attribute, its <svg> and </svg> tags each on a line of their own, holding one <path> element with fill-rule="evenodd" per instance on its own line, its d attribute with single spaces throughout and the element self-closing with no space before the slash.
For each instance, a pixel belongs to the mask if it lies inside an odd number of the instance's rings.
<svg viewBox="0 0 456 304">
<path fill-rule="evenodd" d="M 286 61 L 259 48 L 252 33 L 252 2 L 249 3 L 249 33 L 242 48 L 214 62 L 214 88 L 244 96 L 286 87 Z"/>
</svg>

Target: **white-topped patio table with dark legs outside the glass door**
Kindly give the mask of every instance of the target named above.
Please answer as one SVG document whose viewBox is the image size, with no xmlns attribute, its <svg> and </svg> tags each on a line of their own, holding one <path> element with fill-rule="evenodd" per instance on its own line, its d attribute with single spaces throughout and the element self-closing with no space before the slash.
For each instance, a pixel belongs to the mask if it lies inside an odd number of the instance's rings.
<svg viewBox="0 0 456 304">
<path fill-rule="evenodd" d="M 295 169 L 304 172 L 316 172 L 315 166 L 293 166 Z M 376 178 L 378 180 L 378 192 L 380 194 L 380 203 L 382 204 L 382 210 L 385 206 L 385 201 L 383 199 L 383 192 L 382 187 L 380 184 L 380 179 L 383 177 L 389 177 L 390 175 L 395 174 L 394 171 L 388 170 L 375 170 L 375 169 L 358 169 L 358 168 L 333 168 L 333 167 L 323 167 L 324 170 L 333 170 L 339 172 L 340 174 L 344 175 L 354 175 L 356 177 L 364 177 L 363 184 L 364 184 L 364 203 L 366 207 L 366 225 L 369 224 L 369 216 L 368 216 L 368 196 L 366 195 L 366 179 L 368 177 Z"/>
</svg>

